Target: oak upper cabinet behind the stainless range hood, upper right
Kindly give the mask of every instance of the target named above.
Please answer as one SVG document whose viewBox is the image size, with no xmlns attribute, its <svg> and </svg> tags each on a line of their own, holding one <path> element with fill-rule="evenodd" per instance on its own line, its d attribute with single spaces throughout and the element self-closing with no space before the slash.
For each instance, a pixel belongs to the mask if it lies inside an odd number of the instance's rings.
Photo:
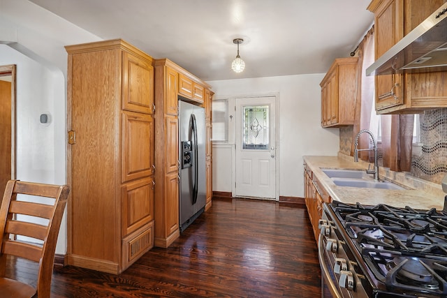
<svg viewBox="0 0 447 298">
<path fill-rule="evenodd" d="M 439 8 L 444 0 L 374 0 L 368 10 L 374 13 L 375 59 Z M 377 75 L 378 114 L 418 113 L 447 107 L 447 72 L 395 73 Z"/>
</svg>

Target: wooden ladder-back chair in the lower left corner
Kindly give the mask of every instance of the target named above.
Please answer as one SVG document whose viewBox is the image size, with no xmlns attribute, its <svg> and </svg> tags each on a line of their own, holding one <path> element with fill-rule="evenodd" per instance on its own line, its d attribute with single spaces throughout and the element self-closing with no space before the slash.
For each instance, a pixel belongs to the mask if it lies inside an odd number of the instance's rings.
<svg viewBox="0 0 447 298">
<path fill-rule="evenodd" d="M 68 193 L 69 186 L 17 180 L 10 180 L 6 184 L 0 207 L 0 297 L 35 297 L 36 294 L 39 298 L 50 297 L 54 252 Z M 24 202 L 22 198 L 26 197 L 21 197 L 20 194 L 52 198 L 39 199 L 50 201 L 52 204 L 29 202 L 29 198 Z M 33 198 L 33 201 L 36 199 Z M 45 218 L 41 220 L 44 223 L 20 221 L 20 214 Z M 43 244 L 20 241 L 17 239 L 19 235 L 40 239 Z M 38 262 L 37 288 L 6 278 L 6 262 L 11 259 L 8 255 Z"/>
</svg>

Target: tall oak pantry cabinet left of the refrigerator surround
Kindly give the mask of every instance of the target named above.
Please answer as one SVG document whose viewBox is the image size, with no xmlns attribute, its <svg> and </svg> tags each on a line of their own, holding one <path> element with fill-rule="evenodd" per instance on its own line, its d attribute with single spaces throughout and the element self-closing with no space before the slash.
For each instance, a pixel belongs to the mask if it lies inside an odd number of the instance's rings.
<svg viewBox="0 0 447 298">
<path fill-rule="evenodd" d="M 66 262 L 119 274 L 154 245 L 154 61 L 119 39 L 66 51 Z"/>
</svg>

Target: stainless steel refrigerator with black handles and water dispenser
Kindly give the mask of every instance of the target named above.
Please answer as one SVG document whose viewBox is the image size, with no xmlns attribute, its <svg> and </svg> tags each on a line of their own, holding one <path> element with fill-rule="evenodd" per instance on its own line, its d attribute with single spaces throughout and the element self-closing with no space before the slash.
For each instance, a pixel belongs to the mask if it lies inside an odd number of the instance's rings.
<svg viewBox="0 0 447 298">
<path fill-rule="evenodd" d="M 179 224 L 183 232 L 205 209 L 205 109 L 179 100 Z"/>
</svg>

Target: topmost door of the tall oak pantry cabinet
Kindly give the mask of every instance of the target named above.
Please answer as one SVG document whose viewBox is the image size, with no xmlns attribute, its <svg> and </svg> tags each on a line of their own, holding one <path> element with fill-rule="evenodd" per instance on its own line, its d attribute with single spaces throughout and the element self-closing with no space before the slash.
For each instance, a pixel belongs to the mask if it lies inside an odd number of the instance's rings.
<svg viewBox="0 0 447 298">
<path fill-rule="evenodd" d="M 154 67 L 128 52 L 122 59 L 122 109 L 152 114 Z"/>
</svg>

